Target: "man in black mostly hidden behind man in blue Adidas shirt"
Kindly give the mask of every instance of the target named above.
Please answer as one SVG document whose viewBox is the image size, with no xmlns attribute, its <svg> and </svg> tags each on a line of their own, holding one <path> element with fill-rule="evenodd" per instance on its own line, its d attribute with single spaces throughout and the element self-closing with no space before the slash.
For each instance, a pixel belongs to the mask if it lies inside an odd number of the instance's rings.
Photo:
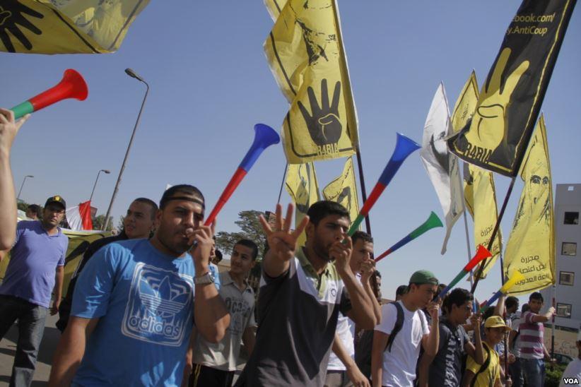
<svg viewBox="0 0 581 387">
<path fill-rule="evenodd" d="M 127 208 L 127 214 L 125 214 L 125 217 L 123 218 L 123 230 L 112 237 L 97 239 L 88 246 L 85 254 L 83 254 L 83 259 L 78 263 L 78 267 L 76 268 L 76 271 L 71 278 L 71 282 L 69 282 L 69 287 L 66 290 L 66 296 L 59 307 L 59 321 L 57 321 L 56 325 L 61 333 L 64 332 L 64 328 L 66 328 L 66 324 L 69 322 L 71 305 L 73 304 L 73 294 L 78 275 L 81 274 L 81 271 L 88 263 L 89 259 L 100 248 L 107 246 L 107 244 L 112 242 L 151 237 L 155 228 L 153 223 L 155 222 L 155 213 L 157 213 L 157 211 L 158 205 L 151 199 L 136 198 L 129 208 Z"/>
</svg>

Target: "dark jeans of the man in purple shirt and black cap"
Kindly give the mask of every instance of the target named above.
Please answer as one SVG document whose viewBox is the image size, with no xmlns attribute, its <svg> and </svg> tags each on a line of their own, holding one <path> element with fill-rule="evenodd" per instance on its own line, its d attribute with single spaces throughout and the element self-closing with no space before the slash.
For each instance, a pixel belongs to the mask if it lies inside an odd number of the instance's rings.
<svg viewBox="0 0 581 387">
<path fill-rule="evenodd" d="M 47 308 L 25 299 L 0 295 L 0 340 L 14 321 L 18 320 L 18 343 L 12 367 L 10 386 L 30 386 L 36 367 L 36 357 L 45 332 Z"/>
</svg>

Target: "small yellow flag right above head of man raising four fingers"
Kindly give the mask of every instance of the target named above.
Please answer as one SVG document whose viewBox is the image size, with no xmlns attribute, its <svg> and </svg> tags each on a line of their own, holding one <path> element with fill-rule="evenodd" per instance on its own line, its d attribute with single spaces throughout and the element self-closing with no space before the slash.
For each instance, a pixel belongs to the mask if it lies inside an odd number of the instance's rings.
<svg viewBox="0 0 581 387">
<path fill-rule="evenodd" d="M 351 221 L 357 218 L 359 214 L 359 200 L 357 196 L 355 170 L 353 169 L 353 158 L 348 157 L 343 167 L 343 173 L 327 184 L 323 189 L 323 196 L 325 200 L 335 201 L 347 208 Z"/>
</svg>

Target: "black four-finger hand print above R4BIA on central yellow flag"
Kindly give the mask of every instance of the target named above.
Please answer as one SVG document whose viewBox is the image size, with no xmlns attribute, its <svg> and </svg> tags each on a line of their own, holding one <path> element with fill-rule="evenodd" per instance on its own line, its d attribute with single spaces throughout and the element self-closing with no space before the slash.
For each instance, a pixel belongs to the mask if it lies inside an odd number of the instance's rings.
<svg viewBox="0 0 581 387">
<path fill-rule="evenodd" d="M 302 102 L 298 101 L 300 112 L 309 129 L 309 134 L 315 144 L 327 145 L 339 141 L 341 138 L 341 120 L 339 119 L 339 97 L 341 97 L 341 82 L 335 83 L 333 100 L 329 105 L 329 92 L 327 91 L 327 79 L 321 81 L 321 106 L 315 97 L 315 91 L 307 88 L 312 115 L 309 114 Z"/>
</svg>

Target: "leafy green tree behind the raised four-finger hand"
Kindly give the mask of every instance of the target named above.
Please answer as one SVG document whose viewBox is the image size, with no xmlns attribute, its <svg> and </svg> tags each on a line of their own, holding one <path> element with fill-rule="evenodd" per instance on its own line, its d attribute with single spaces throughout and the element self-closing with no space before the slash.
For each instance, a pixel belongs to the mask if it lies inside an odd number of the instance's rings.
<svg viewBox="0 0 581 387">
<path fill-rule="evenodd" d="M 264 215 L 261 211 L 245 210 L 238 213 L 239 220 L 235 224 L 240 227 L 239 232 L 217 232 L 216 247 L 226 254 L 232 252 L 235 243 L 240 239 L 250 239 L 258 246 L 258 260 L 262 259 L 264 246 L 266 246 L 266 235 L 262 231 L 262 225 L 258 220 L 258 215 Z"/>
</svg>

